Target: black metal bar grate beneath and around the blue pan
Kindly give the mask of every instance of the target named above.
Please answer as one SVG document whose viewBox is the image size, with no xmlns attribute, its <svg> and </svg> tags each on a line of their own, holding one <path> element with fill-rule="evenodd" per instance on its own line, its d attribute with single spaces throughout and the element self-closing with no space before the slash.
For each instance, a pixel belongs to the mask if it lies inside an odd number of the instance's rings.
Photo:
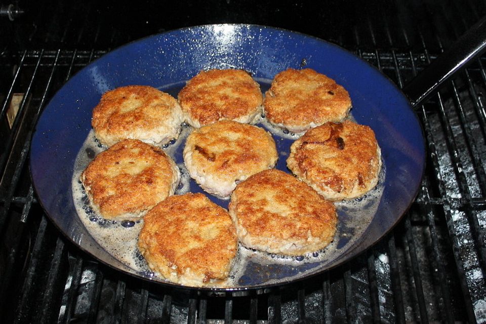
<svg viewBox="0 0 486 324">
<path fill-rule="evenodd" d="M 461 19 L 453 38 L 470 25 Z M 401 87 L 439 54 L 441 38 L 426 23 L 411 34 L 384 21 L 380 28 L 362 21 L 334 42 Z M 3 322 L 486 322 L 486 58 L 417 109 L 427 140 L 425 177 L 410 211 L 379 244 L 294 285 L 212 297 L 150 286 L 99 264 L 65 240 L 38 205 L 27 167 L 38 113 L 73 73 L 106 53 L 67 48 L 0 55 Z M 23 99 L 10 130 L 5 114 L 14 94 Z"/>
</svg>

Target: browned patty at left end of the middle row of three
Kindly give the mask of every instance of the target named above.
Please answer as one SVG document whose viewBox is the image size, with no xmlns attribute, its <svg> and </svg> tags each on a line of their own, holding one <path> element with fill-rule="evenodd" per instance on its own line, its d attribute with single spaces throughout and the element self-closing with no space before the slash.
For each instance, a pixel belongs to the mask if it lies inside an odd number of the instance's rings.
<svg viewBox="0 0 486 324">
<path fill-rule="evenodd" d="M 173 194 L 179 177 L 179 169 L 163 150 L 123 140 L 98 154 L 81 181 L 101 216 L 133 219 Z"/>
</svg>

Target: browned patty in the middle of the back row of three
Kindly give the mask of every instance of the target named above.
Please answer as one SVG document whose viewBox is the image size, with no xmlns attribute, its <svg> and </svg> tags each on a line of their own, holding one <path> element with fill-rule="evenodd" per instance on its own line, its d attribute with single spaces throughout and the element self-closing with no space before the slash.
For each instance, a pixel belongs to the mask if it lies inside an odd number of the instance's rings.
<svg viewBox="0 0 486 324">
<path fill-rule="evenodd" d="M 250 123 L 261 112 L 260 86 L 244 70 L 201 71 L 179 92 L 179 103 L 193 127 L 230 119 Z"/>
</svg>

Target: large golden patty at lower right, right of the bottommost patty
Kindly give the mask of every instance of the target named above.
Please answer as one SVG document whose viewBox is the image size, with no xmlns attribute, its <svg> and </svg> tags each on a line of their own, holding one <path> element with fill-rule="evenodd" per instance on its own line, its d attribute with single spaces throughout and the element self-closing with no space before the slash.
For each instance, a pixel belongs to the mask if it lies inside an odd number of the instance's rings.
<svg viewBox="0 0 486 324">
<path fill-rule="evenodd" d="M 333 240 L 334 205 L 295 177 L 275 169 L 236 186 L 229 214 L 242 244 L 269 253 L 302 255 Z"/>
</svg>

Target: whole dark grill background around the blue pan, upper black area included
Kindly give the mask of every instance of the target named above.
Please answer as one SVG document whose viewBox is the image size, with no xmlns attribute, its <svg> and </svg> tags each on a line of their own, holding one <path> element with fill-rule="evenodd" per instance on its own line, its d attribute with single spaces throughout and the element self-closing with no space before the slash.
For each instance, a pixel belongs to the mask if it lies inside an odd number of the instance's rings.
<svg viewBox="0 0 486 324">
<path fill-rule="evenodd" d="M 353 261 L 269 292 L 203 296 L 111 270 L 55 228 L 28 170 L 35 121 L 54 93 L 145 35 L 223 22 L 283 27 L 339 44 L 401 87 L 486 13 L 484 3 L 15 4 L 22 16 L 0 16 L 2 322 L 486 322 L 486 57 L 417 109 L 427 167 L 399 225 Z M 7 109 L 18 98 L 10 129 Z"/>
</svg>

